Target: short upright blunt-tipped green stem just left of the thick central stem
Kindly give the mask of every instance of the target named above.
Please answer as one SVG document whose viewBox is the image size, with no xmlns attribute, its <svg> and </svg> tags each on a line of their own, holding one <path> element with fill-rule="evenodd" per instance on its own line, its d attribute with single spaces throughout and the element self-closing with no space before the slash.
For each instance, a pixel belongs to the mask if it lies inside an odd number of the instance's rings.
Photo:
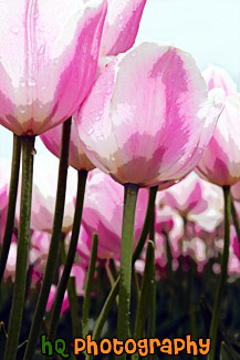
<svg viewBox="0 0 240 360">
<path fill-rule="evenodd" d="M 97 234 L 94 233 L 90 266 L 86 275 L 85 296 L 83 300 L 83 318 L 82 318 L 83 338 L 85 338 L 88 333 L 88 313 L 90 313 L 91 292 L 93 287 L 93 276 L 96 267 L 97 243 L 98 243 Z"/>
</svg>

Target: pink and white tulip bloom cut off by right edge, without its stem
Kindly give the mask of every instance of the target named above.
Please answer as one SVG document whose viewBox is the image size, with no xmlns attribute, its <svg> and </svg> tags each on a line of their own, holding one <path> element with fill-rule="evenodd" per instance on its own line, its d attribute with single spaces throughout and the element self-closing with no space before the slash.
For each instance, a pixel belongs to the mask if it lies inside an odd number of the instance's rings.
<svg viewBox="0 0 240 360">
<path fill-rule="evenodd" d="M 230 186 L 240 181 L 240 97 L 237 93 L 232 95 L 232 85 L 218 69 L 207 81 L 210 86 L 218 86 L 219 79 L 226 91 L 226 105 L 197 172 L 216 185 Z"/>
</svg>

